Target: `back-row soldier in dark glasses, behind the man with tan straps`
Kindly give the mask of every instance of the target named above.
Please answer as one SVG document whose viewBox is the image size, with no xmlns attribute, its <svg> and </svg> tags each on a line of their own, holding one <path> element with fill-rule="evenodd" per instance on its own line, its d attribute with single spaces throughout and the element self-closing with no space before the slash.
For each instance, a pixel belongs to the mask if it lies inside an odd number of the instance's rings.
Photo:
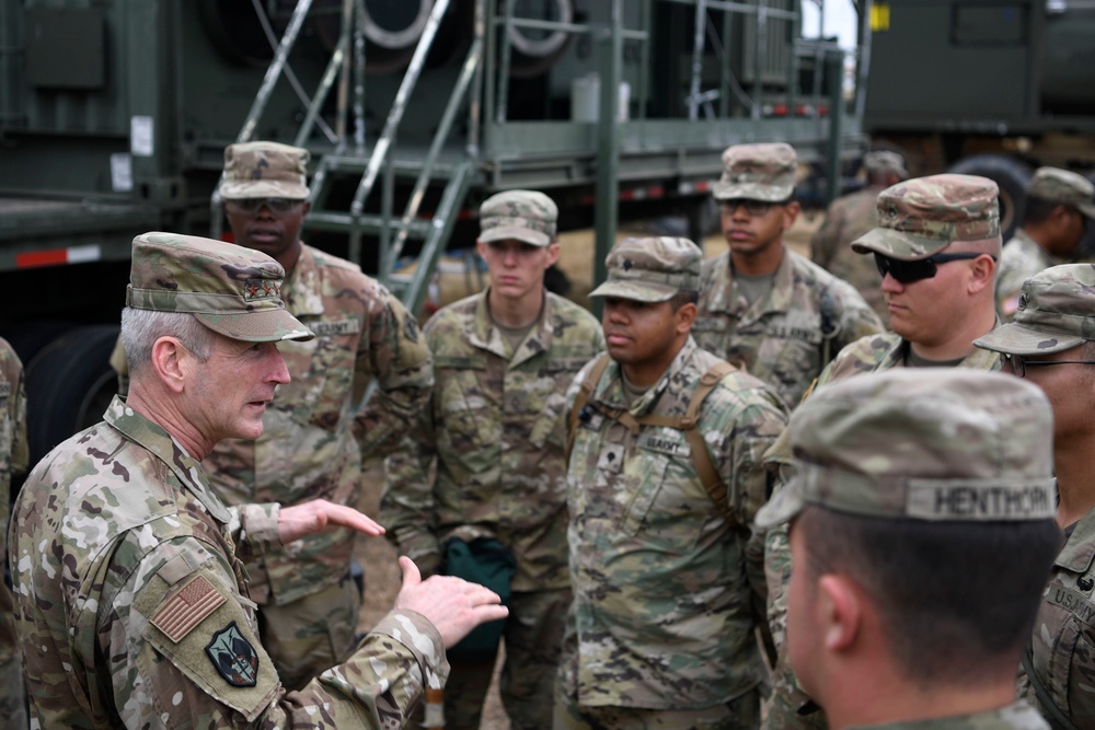
<svg viewBox="0 0 1095 730">
<path fill-rule="evenodd" d="M 729 251 L 704 262 L 692 327 L 700 347 L 745 366 L 788 407 L 841 348 L 884 329 L 854 287 L 784 245 L 799 211 L 796 164 L 783 142 L 723 153 L 714 195 Z"/>
</svg>

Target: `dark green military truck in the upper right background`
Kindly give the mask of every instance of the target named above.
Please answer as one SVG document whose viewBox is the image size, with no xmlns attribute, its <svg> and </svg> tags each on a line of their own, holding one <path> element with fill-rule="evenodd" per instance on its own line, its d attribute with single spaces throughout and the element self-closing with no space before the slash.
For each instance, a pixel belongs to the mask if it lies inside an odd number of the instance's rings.
<svg viewBox="0 0 1095 730">
<path fill-rule="evenodd" d="M 879 0 L 864 129 L 912 170 L 1000 185 L 1006 232 L 1033 170 L 1095 171 L 1095 3 Z"/>
</svg>

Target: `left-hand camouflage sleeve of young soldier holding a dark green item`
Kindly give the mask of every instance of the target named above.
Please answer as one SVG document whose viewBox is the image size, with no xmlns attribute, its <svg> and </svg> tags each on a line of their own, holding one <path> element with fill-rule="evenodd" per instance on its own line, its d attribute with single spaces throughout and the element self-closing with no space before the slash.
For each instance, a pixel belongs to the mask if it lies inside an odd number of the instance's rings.
<svg viewBox="0 0 1095 730">
<path fill-rule="evenodd" d="M 436 572 L 441 563 L 434 498 L 437 454 L 433 421 L 433 405 L 428 402 L 399 449 L 384 460 L 384 494 L 380 500 L 380 522 L 388 530 L 387 537 L 401 555 L 415 561 L 423 578 Z"/>
</svg>

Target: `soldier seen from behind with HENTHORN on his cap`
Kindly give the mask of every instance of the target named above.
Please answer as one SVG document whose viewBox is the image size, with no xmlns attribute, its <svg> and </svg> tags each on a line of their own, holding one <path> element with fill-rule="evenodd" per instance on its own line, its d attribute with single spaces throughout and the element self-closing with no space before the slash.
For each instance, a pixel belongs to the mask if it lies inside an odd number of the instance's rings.
<svg viewBox="0 0 1095 730">
<path fill-rule="evenodd" d="M 796 475 L 757 523 L 792 522 L 791 664 L 830 727 L 1048 728 L 1014 679 L 1060 544 L 1051 429 L 1038 389 L 958 368 L 792 416 Z"/>
</svg>

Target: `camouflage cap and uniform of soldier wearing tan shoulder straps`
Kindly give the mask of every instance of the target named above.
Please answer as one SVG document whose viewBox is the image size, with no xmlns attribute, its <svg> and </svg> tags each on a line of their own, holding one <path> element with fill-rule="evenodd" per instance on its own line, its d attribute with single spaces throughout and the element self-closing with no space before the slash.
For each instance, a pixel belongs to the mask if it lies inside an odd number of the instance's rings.
<svg viewBox="0 0 1095 730">
<path fill-rule="evenodd" d="M 608 257 L 591 296 L 667 301 L 695 291 L 702 254 L 683 239 L 629 239 Z M 785 408 L 735 370 L 707 395 L 698 428 L 727 487 L 730 526 L 700 483 L 682 431 L 634 431 L 607 413 L 682 416 L 719 362 L 691 338 L 660 380 L 630 402 L 612 361 L 590 383 L 567 472 L 574 603 L 560 664 L 555 727 L 750 728 L 766 671 L 753 596 L 763 600 L 750 525 L 768 495 L 761 457 Z M 574 403 L 592 363 L 567 399 Z M 749 565 L 757 559 L 757 565 Z M 589 723 L 589 725 L 587 725 Z M 658 727 L 662 727 L 658 725 Z"/>
</svg>

